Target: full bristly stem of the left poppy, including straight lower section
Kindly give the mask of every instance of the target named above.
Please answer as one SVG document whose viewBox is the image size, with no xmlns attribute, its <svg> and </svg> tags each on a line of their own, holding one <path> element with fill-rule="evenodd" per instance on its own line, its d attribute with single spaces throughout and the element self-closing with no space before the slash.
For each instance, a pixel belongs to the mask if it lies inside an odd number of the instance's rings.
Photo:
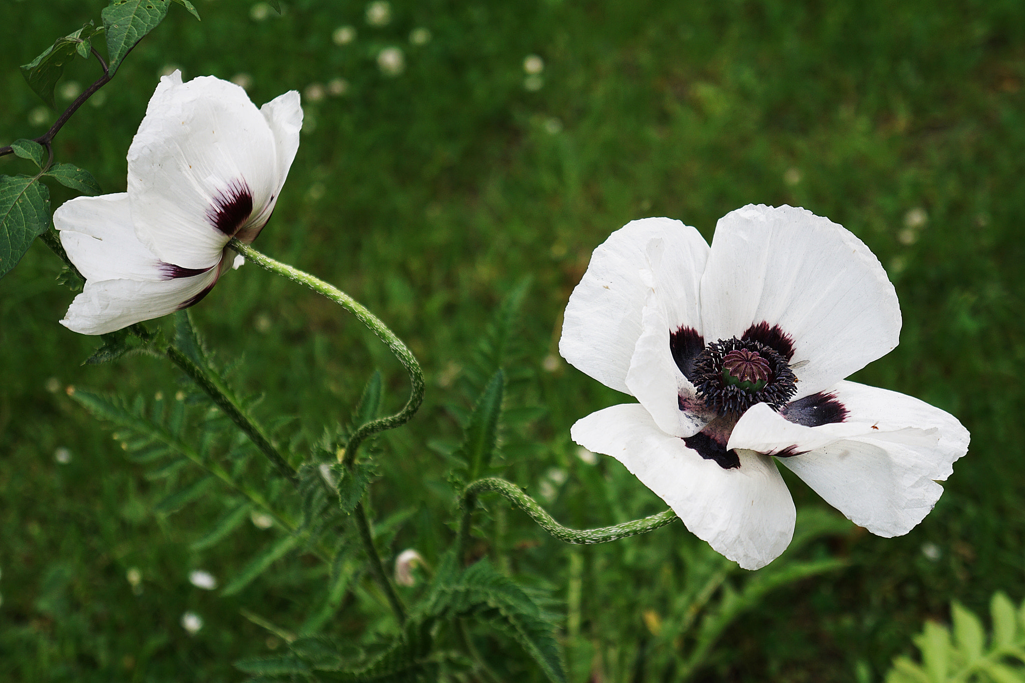
<svg viewBox="0 0 1025 683">
<path fill-rule="evenodd" d="M 353 299 L 353 297 L 348 296 L 337 287 L 325 283 L 323 280 L 315 278 L 309 272 L 303 272 L 298 268 L 294 268 L 287 263 L 282 263 L 281 261 L 275 260 L 270 256 L 264 256 L 249 245 L 243 244 L 238 240 L 233 239 L 229 243 L 229 246 L 238 253 L 242 254 L 247 260 L 252 261 L 261 268 L 270 270 L 275 274 L 284 275 L 294 283 L 309 287 L 318 294 L 348 310 L 351 313 L 356 315 L 361 323 L 370 328 L 370 330 L 377 335 L 381 341 L 387 344 L 388 348 L 392 349 L 392 352 L 395 353 L 396 357 L 399 358 L 399 361 L 406 369 L 406 372 L 409 373 L 409 380 L 412 384 L 412 389 L 410 391 L 409 400 L 406 401 L 403 409 L 395 415 L 368 422 L 357 429 L 356 432 L 354 432 L 348 438 L 348 442 L 345 444 L 345 454 L 342 456 L 342 464 L 347 469 L 352 470 L 356 465 L 356 458 L 363 441 L 377 432 L 384 431 L 385 429 L 394 429 L 406 424 L 420 408 L 420 403 L 423 401 L 424 390 L 423 371 L 420 370 L 420 364 L 417 362 L 412 351 L 410 351 L 409 348 L 402 343 L 401 339 L 395 336 L 395 333 L 392 332 L 386 325 L 381 323 L 376 315 L 371 313 L 363 305 Z M 377 582 L 377 585 L 384 593 L 384 596 L 387 598 L 388 604 L 392 606 L 392 611 L 395 612 L 395 616 L 399 621 L 399 624 L 405 624 L 406 610 L 403 607 L 402 600 L 399 599 L 399 595 L 395 592 L 395 588 L 392 586 L 392 582 L 388 580 L 387 573 L 384 571 L 383 564 L 381 564 L 381 558 L 377 553 L 377 548 L 374 546 L 373 533 L 370 530 L 370 519 L 367 516 L 366 507 L 362 502 L 356 506 L 356 510 L 353 511 L 353 515 L 356 518 L 356 524 L 359 528 L 360 540 L 363 543 L 363 550 L 366 553 L 367 560 L 370 564 L 370 573 Z"/>
</svg>

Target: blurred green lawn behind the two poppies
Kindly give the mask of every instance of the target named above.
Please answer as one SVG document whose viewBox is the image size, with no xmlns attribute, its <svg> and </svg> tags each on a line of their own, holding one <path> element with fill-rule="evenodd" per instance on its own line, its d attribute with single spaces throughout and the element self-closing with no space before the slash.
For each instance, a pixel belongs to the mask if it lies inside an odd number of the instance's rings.
<svg viewBox="0 0 1025 683">
<path fill-rule="evenodd" d="M 38 135 L 55 117 L 38 109 L 17 65 L 98 19 L 105 4 L 0 9 L 0 141 Z M 123 190 L 127 146 L 171 65 L 186 78 L 248 74 L 257 103 L 346 79 L 343 96 L 305 98 L 312 125 L 256 246 L 368 305 L 428 373 L 427 401 L 387 438 L 387 476 L 375 486 L 381 510 L 421 510 L 397 550 L 417 539 L 430 557 L 449 538 L 444 463 L 424 444 L 457 437 L 446 405 L 467 405 L 459 368 L 502 293 L 527 274 L 520 338 L 533 372 L 510 407 L 546 414 L 508 435 L 523 445 L 519 459 L 509 454 L 509 476 L 536 486 L 550 468 L 568 470 L 554 505 L 567 523 L 659 509 L 611 459 L 592 467 L 574 457 L 573 421 L 620 397 L 562 364 L 542 370 L 562 308 L 590 250 L 630 219 L 680 218 L 710 238 L 732 209 L 787 203 L 861 237 L 897 287 L 901 345 L 856 379 L 953 412 L 973 433 L 972 452 L 921 525 L 900 539 L 835 541 L 830 550 L 851 568 L 770 597 L 729 631 L 702 680 L 852 681 L 858 661 L 878 676 L 951 598 L 979 610 L 996 589 L 1025 597 L 1021 3 L 397 1 L 382 28 L 367 25 L 363 3 L 296 1 L 262 20 L 245 2 L 197 7 L 202 23 L 172 7 L 102 103 L 61 131 L 57 159 L 91 170 L 106 191 Z M 342 25 L 358 36 L 338 46 L 332 32 Z M 410 44 L 416 27 L 432 40 Z M 391 45 L 406 56 L 394 78 L 375 62 Z M 536 92 L 524 87 L 531 53 L 545 62 Z M 94 63 L 76 63 L 67 80 L 96 75 Z M 25 164 L 3 158 L 0 172 Z M 70 197 L 53 196 L 54 206 Z M 917 227 L 913 210 L 926 216 Z M 159 488 L 63 387 L 173 392 L 177 378 L 146 357 L 80 366 L 95 342 L 56 325 L 72 298 L 54 286 L 57 271 L 37 245 L 0 281 L 0 678 L 240 680 L 230 663 L 268 643 L 239 608 L 287 622 L 303 605 L 273 586 L 223 599 L 189 585 L 197 566 L 237 570 L 266 532 L 247 526 L 191 553 L 188 543 L 219 514 L 216 501 L 170 518 L 150 512 Z M 398 364 L 355 321 L 254 267 L 225 278 L 194 311 L 220 357 L 244 357 L 238 377 L 266 393 L 263 416 L 296 415 L 318 434 L 348 414 L 374 367 L 385 372 L 387 404 L 404 399 Z M 54 462 L 57 447 L 69 449 L 69 464 Z M 822 505 L 788 483 L 798 506 Z M 608 505 L 594 504 L 594 486 L 607 488 Z M 679 566 L 686 532 L 581 551 L 519 513 L 495 514 L 508 526 L 511 561 L 560 591 L 570 554 L 582 553 L 581 633 L 607 671 L 621 672 L 610 680 L 660 680 L 644 669 L 642 614 L 668 604 L 672 584 L 659 577 Z M 922 553 L 927 543 L 938 559 Z M 285 564 L 282 575 L 305 570 Z M 138 596 L 125 580 L 132 566 L 145 578 Z M 178 626 L 186 609 L 205 620 L 195 637 Z"/>
</svg>

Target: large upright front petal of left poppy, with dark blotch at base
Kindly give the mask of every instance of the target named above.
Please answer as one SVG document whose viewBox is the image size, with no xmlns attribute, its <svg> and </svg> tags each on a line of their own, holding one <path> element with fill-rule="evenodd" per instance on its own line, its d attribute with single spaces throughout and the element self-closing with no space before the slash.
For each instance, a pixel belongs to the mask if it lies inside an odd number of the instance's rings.
<svg viewBox="0 0 1025 683">
<path fill-rule="evenodd" d="M 204 76 L 188 83 L 165 76 L 128 150 L 128 195 L 139 240 L 161 260 L 208 268 L 230 239 L 218 229 L 217 207 L 250 197 L 252 221 L 276 198 L 281 168 L 276 135 L 245 90 Z M 248 216 L 248 218 L 247 218 Z"/>
</svg>

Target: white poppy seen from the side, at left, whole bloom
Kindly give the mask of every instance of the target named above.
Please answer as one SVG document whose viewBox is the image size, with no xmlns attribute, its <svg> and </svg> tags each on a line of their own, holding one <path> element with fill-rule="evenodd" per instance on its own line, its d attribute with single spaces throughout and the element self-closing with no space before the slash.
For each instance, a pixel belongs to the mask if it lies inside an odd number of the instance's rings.
<svg viewBox="0 0 1025 683">
<path fill-rule="evenodd" d="M 86 279 L 60 324 L 100 335 L 206 296 L 233 264 L 228 242 L 251 243 L 271 217 L 301 127 L 295 91 L 257 110 L 212 76 L 161 78 L 128 150 L 128 191 L 53 213 Z"/>
</svg>

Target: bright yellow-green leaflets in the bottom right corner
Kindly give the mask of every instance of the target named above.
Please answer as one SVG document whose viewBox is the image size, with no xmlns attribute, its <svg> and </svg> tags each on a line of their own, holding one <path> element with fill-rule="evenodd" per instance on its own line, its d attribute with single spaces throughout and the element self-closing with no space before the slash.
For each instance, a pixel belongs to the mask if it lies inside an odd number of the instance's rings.
<svg viewBox="0 0 1025 683">
<path fill-rule="evenodd" d="M 953 629 L 926 622 L 914 637 L 921 664 L 894 659 L 887 683 L 1025 683 L 1025 602 L 1019 607 L 1003 593 L 989 603 L 992 631 L 956 601 L 950 605 Z"/>
</svg>

